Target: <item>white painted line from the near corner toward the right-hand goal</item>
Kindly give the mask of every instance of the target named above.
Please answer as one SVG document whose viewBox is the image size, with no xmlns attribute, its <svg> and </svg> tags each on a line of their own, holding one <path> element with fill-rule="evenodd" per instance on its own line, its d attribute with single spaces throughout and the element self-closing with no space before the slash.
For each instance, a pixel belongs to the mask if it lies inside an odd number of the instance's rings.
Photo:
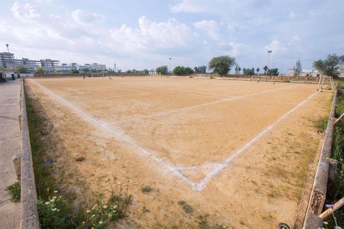
<svg viewBox="0 0 344 229">
<path fill-rule="evenodd" d="M 236 158 L 238 155 L 240 155 L 242 152 L 244 152 L 246 149 L 248 149 L 249 147 L 251 147 L 251 145 L 253 145 L 257 140 L 259 140 L 263 135 L 265 135 L 267 132 L 269 132 L 270 130 L 272 130 L 275 125 L 279 122 L 281 122 L 284 118 L 286 118 L 289 114 L 292 114 L 293 112 L 295 112 L 298 108 L 300 108 L 301 106 L 303 106 L 306 102 L 308 102 L 315 94 L 317 94 L 317 92 L 315 92 L 314 94 L 312 94 L 310 97 L 308 97 L 306 100 L 304 100 L 302 103 L 300 103 L 298 106 L 296 106 L 295 108 L 293 108 L 292 110 L 290 110 L 289 112 L 287 112 L 286 114 L 284 114 L 282 117 L 280 117 L 275 123 L 273 123 L 272 125 L 268 126 L 267 128 L 265 128 L 262 132 L 260 132 L 257 136 L 255 136 L 251 141 L 249 141 L 246 145 L 244 145 L 241 149 L 239 149 L 238 151 L 236 151 L 236 153 L 234 153 L 233 155 L 231 155 L 230 157 L 228 157 L 223 163 L 219 164 L 218 167 L 213 170 L 211 173 L 209 173 L 205 178 L 203 178 L 203 180 L 201 180 L 201 182 L 199 182 L 196 186 L 193 187 L 193 189 L 201 191 L 203 189 L 203 186 L 209 182 L 209 180 L 215 176 L 216 174 L 218 174 L 223 168 L 225 168 L 234 158 Z"/>
</svg>

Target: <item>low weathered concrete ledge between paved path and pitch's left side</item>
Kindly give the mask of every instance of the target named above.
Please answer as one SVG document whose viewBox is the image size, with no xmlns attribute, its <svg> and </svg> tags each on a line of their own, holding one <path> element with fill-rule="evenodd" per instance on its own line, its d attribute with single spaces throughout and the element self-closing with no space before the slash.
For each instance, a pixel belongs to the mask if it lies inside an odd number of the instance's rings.
<svg viewBox="0 0 344 229">
<path fill-rule="evenodd" d="M 16 159 L 16 163 L 18 159 Z M 21 158 L 20 158 L 20 184 L 21 184 L 21 229 L 39 228 L 38 211 L 36 207 L 37 193 L 34 182 L 32 154 L 29 130 L 27 125 L 24 82 L 21 80 Z"/>
</svg>

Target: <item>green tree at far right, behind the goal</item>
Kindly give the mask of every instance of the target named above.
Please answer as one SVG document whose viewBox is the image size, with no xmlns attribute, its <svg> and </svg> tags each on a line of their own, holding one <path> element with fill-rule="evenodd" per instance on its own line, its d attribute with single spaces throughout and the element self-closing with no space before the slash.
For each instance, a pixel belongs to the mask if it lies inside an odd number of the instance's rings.
<svg viewBox="0 0 344 229">
<path fill-rule="evenodd" d="M 338 77 L 341 72 L 339 65 L 344 64 L 344 55 L 337 56 L 337 54 L 329 54 L 325 60 L 316 60 L 313 62 L 313 67 L 325 76 Z"/>
</svg>

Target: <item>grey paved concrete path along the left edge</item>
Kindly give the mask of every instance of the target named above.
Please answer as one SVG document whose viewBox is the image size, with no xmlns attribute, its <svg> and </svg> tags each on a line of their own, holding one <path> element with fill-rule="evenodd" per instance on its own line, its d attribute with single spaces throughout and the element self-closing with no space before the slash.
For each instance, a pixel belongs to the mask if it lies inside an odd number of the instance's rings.
<svg viewBox="0 0 344 229">
<path fill-rule="evenodd" d="M 0 84 L 0 228 L 20 227 L 20 202 L 12 203 L 4 189 L 16 181 L 12 156 L 20 153 L 20 79 Z"/>
</svg>

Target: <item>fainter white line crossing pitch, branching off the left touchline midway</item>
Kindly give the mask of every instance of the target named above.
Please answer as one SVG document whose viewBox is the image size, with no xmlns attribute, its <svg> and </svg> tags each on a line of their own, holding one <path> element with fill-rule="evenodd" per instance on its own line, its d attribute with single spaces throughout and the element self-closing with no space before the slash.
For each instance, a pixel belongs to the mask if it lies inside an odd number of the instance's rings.
<svg viewBox="0 0 344 229">
<path fill-rule="evenodd" d="M 284 87 L 284 88 L 299 87 L 299 86 L 300 85 L 293 85 L 293 86 L 288 86 L 288 87 Z M 144 116 L 141 116 L 141 117 L 134 117 L 134 118 L 130 118 L 130 119 L 122 120 L 122 121 L 111 122 L 108 125 L 120 124 L 120 123 L 124 123 L 124 122 L 128 122 L 128 121 L 139 120 L 139 119 L 142 119 L 142 118 L 160 116 L 160 115 L 170 114 L 170 113 L 179 112 L 179 111 L 185 111 L 185 110 L 189 110 L 189 109 L 192 109 L 192 108 L 199 108 L 199 107 L 204 107 L 204 106 L 208 106 L 208 105 L 212 105 L 212 104 L 217 104 L 217 103 L 222 103 L 222 102 L 226 102 L 226 101 L 242 99 L 242 98 L 249 97 L 249 96 L 255 96 L 255 95 L 259 95 L 259 94 L 264 94 L 264 93 L 267 93 L 267 92 L 273 92 L 273 91 L 281 90 L 281 89 L 284 89 L 284 88 L 277 88 L 277 89 L 272 89 L 272 90 L 263 91 L 263 92 L 257 92 L 257 93 L 253 93 L 253 94 L 249 94 L 249 95 L 245 95 L 245 96 L 238 96 L 238 97 L 234 97 L 234 98 L 229 98 L 229 99 L 219 100 L 219 101 L 215 101 L 215 102 L 210 102 L 210 103 L 206 103 L 206 104 L 200 104 L 200 105 L 195 105 L 195 106 L 186 107 L 186 108 L 179 108 L 179 109 L 175 109 L 175 110 L 171 110 L 171 111 L 160 112 L 160 113 L 156 113 L 156 114 L 144 115 Z"/>
</svg>

